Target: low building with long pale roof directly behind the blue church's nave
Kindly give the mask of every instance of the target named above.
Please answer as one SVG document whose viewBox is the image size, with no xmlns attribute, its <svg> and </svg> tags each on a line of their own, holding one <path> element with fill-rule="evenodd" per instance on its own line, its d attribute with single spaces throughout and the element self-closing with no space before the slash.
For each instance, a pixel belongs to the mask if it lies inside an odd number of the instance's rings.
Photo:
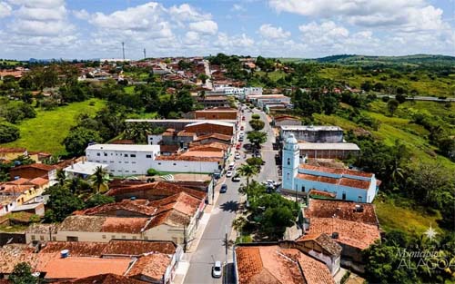
<svg viewBox="0 0 455 284">
<path fill-rule="evenodd" d="M 298 143 L 300 157 L 345 160 L 356 157 L 360 148 L 354 143 Z"/>
</svg>

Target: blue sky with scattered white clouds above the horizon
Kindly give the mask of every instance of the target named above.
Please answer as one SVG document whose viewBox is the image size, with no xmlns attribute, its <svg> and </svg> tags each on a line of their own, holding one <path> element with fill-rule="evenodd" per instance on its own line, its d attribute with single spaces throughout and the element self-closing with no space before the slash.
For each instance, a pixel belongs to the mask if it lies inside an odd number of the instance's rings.
<svg viewBox="0 0 455 284">
<path fill-rule="evenodd" d="M 0 0 L 0 58 L 455 55 L 455 0 Z"/>
</svg>

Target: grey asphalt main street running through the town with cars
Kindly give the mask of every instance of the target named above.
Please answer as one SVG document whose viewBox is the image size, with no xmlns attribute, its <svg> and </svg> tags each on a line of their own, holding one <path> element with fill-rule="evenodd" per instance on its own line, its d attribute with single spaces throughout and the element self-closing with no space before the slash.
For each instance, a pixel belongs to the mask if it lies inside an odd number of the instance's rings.
<svg viewBox="0 0 455 284">
<path fill-rule="evenodd" d="M 275 142 L 274 133 L 267 122 L 266 114 L 259 112 L 258 110 L 255 110 L 254 113 L 259 113 L 261 115 L 261 119 L 266 122 L 264 131 L 268 132 L 268 142 L 266 142 L 261 149 L 262 159 L 266 161 L 266 164 L 262 167 L 262 170 L 258 174 L 258 178 L 255 180 L 267 181 L 273 179 L 274 181 L 278 181 L 277 166 L 275 165 L 276 152 L 272 151 L 272 142 Z M 244 132 L 251 130 L 248 124 L 248 121 L 251 119 L 251 114 L 252 113 L 249 113 L 248 111 L 245 111 L 244 113 L 246 116 L 245 122 L 242 122 L 242 125 L 245 127 Z M 245 139 L 245 142 L 248 142 L 247 139 Z M 240 152 L 241 159 L 237 160 L 236 166 L 244 162 L 244 152 Z M 250 156 L 248 155 L 248 157 Z M 227 234 L 230 234 L 232 220 L 235 219 L 236 211 L 238 210 L 238 202 L 240 200 L 238 187 L 240 183 L 245 183 L 246 181 L 242 178 L 240 182 L 232 182 L 230 178 L 223 176 L 218 183 L 223 182 L 227 184 L 227 192 L 220 194 L 217 200 L 217 204 L 211 213 L 206 230 L 202 235 L 202 239 L 199 242 L 197 250 L 191 257 L 190 266 L 184 283 L 222 283 L 223 278 L 212 278 L 212 265 L 217 260 L 222 262 L 232 262 L 232 248 L 229 248 L 226 258 L 224 239 L 226 232 Z M 232 274 L 232 271 L 229 271 L 228 273 Z M 232 279 L 231 275 L 229 275 L 228 279 Z"/>
</svg>

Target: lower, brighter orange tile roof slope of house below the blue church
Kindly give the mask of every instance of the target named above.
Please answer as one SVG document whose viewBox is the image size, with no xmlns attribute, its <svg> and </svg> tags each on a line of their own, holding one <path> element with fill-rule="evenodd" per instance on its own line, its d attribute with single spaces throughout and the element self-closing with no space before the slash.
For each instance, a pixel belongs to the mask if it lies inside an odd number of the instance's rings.
<svg viewBox="0 0 455 284">
<path fill-rule="evenodd" d="M 335 239 L 336 241 L 360 250 L 368 249 L 380 239 L 377 226 L 336 218 L 311 218 L 308 232 L 327 233 L 330 236 L 333 232 L 338 232 L 339 238 Z"/>
</svg>

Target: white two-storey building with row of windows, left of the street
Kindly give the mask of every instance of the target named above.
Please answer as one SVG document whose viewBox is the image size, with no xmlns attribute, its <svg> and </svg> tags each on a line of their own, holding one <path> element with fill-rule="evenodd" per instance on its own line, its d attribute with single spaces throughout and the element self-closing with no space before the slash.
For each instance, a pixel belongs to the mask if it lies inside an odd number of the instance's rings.
<svg viewBox="0 0 455 284">
<path fill-rule="evenodd" d="M 88 162 L 107 164 L 113 175 L 146 174 L 154 167 L 159 145 L 94 144 L 86 148 Z"/>
</svg>

